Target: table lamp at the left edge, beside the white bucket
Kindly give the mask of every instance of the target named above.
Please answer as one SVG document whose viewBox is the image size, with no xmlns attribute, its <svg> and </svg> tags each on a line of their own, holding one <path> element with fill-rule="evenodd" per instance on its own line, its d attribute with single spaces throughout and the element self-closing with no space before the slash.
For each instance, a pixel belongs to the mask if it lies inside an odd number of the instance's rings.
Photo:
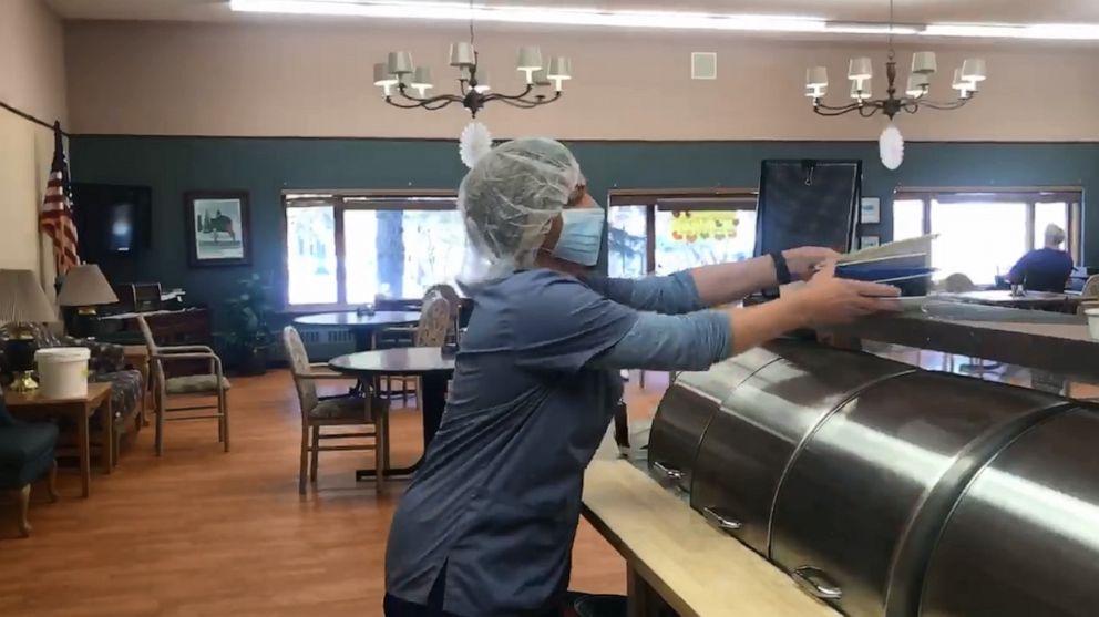
<svg viewBox="0 0 1099 617">
<path fill-rule="evenodd" d="M 32 371 L 38 342 L 30 323 L 55 321 L 58 313 L 50 306 L 38 277 L 30 270 L 0 270 L 0 325 L 12 323 L 4 348 L 14 381 L 11 389 L 27 392 L 38 388 Z"/>
</svg>

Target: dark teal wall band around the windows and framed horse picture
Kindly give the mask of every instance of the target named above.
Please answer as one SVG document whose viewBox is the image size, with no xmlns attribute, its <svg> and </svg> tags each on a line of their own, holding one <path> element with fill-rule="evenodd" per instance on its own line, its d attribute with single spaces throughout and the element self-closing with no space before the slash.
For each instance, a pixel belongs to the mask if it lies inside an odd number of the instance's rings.
<svg viewBox="0 0 1099 617">
<path fill-rule="evenodd" d="M 883 205 L 905 186 L 1083 186 L 1099 188 L 1099 144 L 908 144 L 889 172 L 869 142 L 578 142 L 569 144 L 600 200 L 618 188 L 754 187 L 764 158 L 862 158 L 863 192 Z M 463 174 L 454 141 L 75 136 L 78 182 L 153 188 L 153 248 L 103 264 L 115 280 L 161 281 L 214 306 L 250 272 L 187 267 L 183 194 L 246 189 L 251 197 L 253 268 L 283 277 L 284 188 L 454 188 Z M 79 207 L 79 205 L 78 205 Z M 1099 204 L 1085 205 L 1085 249 L 1099 265 Z M 890 209 L 881 235 L 887 239 Z M 979 247 L 974 247 L 979 250 Z"/>
</svg>

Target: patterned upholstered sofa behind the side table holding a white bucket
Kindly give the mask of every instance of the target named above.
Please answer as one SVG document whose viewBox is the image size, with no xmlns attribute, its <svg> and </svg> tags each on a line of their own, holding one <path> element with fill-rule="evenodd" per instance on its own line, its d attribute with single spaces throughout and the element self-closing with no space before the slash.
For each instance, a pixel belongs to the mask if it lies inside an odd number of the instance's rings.
<svg viewBox="0 0 1099 617">
<path fill-rule="evenodd" d="M 0 383 L 7 385 L 11 381 L 12 370 L 4 358 L 4 347 L 11 331 L 10 326 L 0 328 Z M 131 420 L 136 429 L 141 428 L 142 419 L 135 415 L 144 411 L 145 381 L 138 370 L 126 367 L 124 348 L 121 345 L 99 342 L 86 339 L 57 336 L 41 325 L 32 325 L 34 340 L 39 349 L 53 347 L 85 347 L 92 352 L 88 362 L 89 383 L 111 384 L 111 409 L 114 411 L 114 425 L 120 433 L 126 431 Z"/>
</svg>

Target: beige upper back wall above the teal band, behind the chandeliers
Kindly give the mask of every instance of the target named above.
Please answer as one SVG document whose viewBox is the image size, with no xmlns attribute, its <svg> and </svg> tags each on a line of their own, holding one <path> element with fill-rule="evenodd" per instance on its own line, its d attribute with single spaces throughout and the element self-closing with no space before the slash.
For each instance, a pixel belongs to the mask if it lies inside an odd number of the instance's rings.
<svg viewBox="0 0 1099 617">
<path fill-rule="evenodd" d="M 371 64 L 404 49 L 430 64 L 452 91 L 448 43 L 462 28 L 423 25 L 171 24 L 78 22 L 68 27 L 73 127 L 82 133 L 300 135 L 453 138 L 464 110 L 402 111 L 384 105 Z M 480 33 L 479 49 L 504 91 L 520 86 L 515 49 L 535 42 L 573 58 L 565 99 L 537 111 L 492 105 L 483 120 L 495 135 L 546 134 L 593 140 L 864 140 L 884 120 L 822 119 L 802 96 L 804 68 L 826 64 L 844 100 L 850 56 L 870 54 L 882 73 L 883 44 L 838 45 L 735 35 L 669 35 L 543 30 Z M 910 140 L 1099 140 L 1099 53 L 1019 43 L 934 45 L 941 73 L 933 88 L 949 97 L 964 55 L 987 59 L 990 80 L 969 106 L 905 116 Z M 719 53 L 717 81 L 691 81 L 691 51 Z M 911 50 L 903 50 L 905 62 Z M 903 63 L 902 63 L 903 64 Z M 844 92 L 841 92 L 844 91 Z M 438 92 L 438 90 L 436 90 Z"/>
</svg>

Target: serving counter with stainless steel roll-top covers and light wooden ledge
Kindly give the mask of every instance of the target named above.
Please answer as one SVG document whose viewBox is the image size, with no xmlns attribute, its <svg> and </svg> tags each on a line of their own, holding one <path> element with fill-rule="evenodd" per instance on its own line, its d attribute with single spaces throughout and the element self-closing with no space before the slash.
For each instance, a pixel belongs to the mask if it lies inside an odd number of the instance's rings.
<svg viewBox="0 0 1099 617">
<path fill-rule="evenodd" d="M 1097 405 L 781 340 L 680 373 L 647 473 L 593 463 L 584 501 L 634 615 L 659 597 L 679 615 L 1086 617 L 1097 452 Z"/>
</svg>

